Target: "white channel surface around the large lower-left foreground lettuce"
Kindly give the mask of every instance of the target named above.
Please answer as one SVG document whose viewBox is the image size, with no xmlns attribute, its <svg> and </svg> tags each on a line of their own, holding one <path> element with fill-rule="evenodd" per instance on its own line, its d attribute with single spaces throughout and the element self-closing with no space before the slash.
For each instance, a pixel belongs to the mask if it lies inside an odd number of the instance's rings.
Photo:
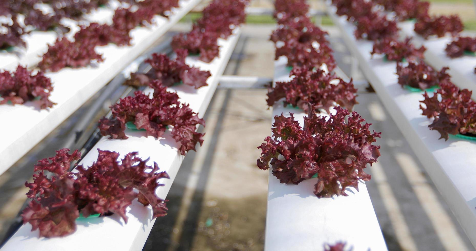
<svg viewBox="0 0 476 251">
<path fill-rule="evenodd" d="M 234 35 L 228 40 L 219 40 L 220 57 L 211 63 L 204 63 L 197 58 L 187 58 L 187 63 L 209 70 L 212 74 L 208 78 L 208 86 L 195 90 L 191 86 L 180 85 L 171 87 L 169 90 L 177 90 L 180 100 L 190 104 L 190 108 L 203 117 L 208 104 L 215 92 L 218 80 L 226 68 L 227 62 L 235 48 L 239 37 L 239 29 L 235 29 Z M 161 171 L 167 171 L 170 179 L 162 179 L 165 186 L 157 190 L 159 198 L 166 199 L 172 182 L 184 156 L 178 154 L 178 143 L 166 133 L 163 138 L 156 139 L 146 137 L 143 131 L 126 131 L 127 140 L 108 140 L 102 137 L 82 160 L 82 164 L 88 166 L 98 158 L 96 149 L 117 151 L 121 157 L 129 152 L 138 151 L 139 157 L 147 159 L 149 164 L 154 161 L 159 164 Z M 73 234 L 62 238 L 38 238 L 38 230 L 31 231 L 31 225 L 23 225 L 13 237 L 5 244 L 1 251 L 17 250 L 49 250 L 49 251 L 84 251 L 84 250 L 142 250 L 149 232 L 154 225 L 150 206 L 144 207 L 137 201 L 128 208 L 128 223 L 125 224 L 118 215 L 109 217 L 77 220 L 78 230 Z M 167 216 L 165 216 L 167 217 Z"/>
</svg>

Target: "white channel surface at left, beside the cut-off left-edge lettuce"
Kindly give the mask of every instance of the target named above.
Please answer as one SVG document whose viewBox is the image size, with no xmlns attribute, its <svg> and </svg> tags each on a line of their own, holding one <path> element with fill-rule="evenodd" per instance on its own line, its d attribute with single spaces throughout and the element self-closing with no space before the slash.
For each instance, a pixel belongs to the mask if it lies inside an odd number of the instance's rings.
<svg viewBox="0 0 476 251">
<path fill-rule="evenodd" d="M 181 0 L 181 7 L 173 9 L 169 19 L 157 16 L 151 27 L 132 30 L 132 46 L 109 44 L 97 47 L 105 60 L 96 66 L 46 73 L 54 87 L 50 100 L 57 103 L 52 108 L 39 110 L 37 101 L 24 105 L 0 105 L 0 131 L 3 132 L 0 135 L 0 174 L 153 45 L 200 1 Z"/>
</svg>

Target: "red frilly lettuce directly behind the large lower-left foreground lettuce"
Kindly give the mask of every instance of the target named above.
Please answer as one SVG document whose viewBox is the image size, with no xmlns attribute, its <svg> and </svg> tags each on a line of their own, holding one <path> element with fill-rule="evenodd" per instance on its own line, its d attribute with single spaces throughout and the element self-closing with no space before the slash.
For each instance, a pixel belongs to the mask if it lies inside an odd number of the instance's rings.
<svg viewBox="0 0 476 251">
<path fill-rule="evenodd" d="M 147 135 L 159 138 L 167 126 L 172 126 L 172 138 L 181 143 L 180 154 L 195 151 L 197 142 L 200 145 L 203 142 L 203 134 L 196 132 L 197 126 L 205 126 L 205 121 L 199 119 L 188 104 L 180 103 L 177 93 L 167 91 L 159 80 L 151 81 L 150 86 L 154 89 L 152 98 L 136 91 L 134 97 L 126 97 L 111 106 L 112 119 L 99 121 L 101 134 L 112 139 L 128 139 L 124 133 L 126 123 L 133 122 L 138 129 L 145 129 Z"/>
</svg>

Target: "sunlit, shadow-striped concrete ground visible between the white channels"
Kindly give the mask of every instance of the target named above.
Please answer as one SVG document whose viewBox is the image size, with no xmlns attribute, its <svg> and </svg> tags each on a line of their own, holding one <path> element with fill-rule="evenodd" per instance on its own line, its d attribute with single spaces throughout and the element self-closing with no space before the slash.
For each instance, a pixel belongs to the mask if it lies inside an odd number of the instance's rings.
<svg viewBox="0 0 476 251">
<path fill-rule="evenodd" d="M 177 25 L 174 30 L 188 26 Z M 273 76 L 274 25 L 246 25 L 225 74 Z M 350 58 L 338 30 L 325 27 L 339 67 Z M 363 77 L 357 73 L 357 80 Z M 204 145 L 190 152 L 169 192 L 169 214 L 159 218 L 145 251 L 262 250 L 268 173 L 256 167 L 257 147 L 270 135 L 266 90 L 218 89 L 206 113 Z M 474 250 L 375 93 L 359 90 L 355 110 L 382 132 L 378 163 L 368 168 L 374 209 L 391 251 Z M 0 239 L 25 200 L 25 180 L 36 160 L 54 154 L 87 106 L 30 155 L 0 176 Z"/>
</svg>

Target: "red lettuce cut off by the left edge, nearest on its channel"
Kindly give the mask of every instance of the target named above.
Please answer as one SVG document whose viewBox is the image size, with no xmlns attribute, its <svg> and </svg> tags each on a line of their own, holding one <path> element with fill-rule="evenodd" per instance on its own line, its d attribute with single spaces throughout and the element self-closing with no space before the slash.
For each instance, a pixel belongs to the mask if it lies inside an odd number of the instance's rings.
<svg viewBox="0 0 476 251">
<path fill-rule="evenodd" d="M 31 71 L 18 66 L 15 72 L 3 71 L 0 73 L 0 104 L 9 101 L 13 104 L 23 104 L 26 101 L 40 98 L 40 108 L 53 107 L 55 103 L 48 98 L 53 90 L 51 80 L 41 71 L 33 75 Z"/>
</svg>

